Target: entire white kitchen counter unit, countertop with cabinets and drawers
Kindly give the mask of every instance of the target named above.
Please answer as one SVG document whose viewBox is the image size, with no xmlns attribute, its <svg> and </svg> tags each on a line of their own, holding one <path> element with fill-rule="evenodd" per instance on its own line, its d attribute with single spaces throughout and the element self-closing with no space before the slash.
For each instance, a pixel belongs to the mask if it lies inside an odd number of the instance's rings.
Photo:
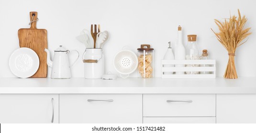
<svg viewBox="0 0 256 133">
<path fill-rule="evenodd" d="M 0 123 L 256 123 L 255 81 L 0 78 Z"/>
</svg>

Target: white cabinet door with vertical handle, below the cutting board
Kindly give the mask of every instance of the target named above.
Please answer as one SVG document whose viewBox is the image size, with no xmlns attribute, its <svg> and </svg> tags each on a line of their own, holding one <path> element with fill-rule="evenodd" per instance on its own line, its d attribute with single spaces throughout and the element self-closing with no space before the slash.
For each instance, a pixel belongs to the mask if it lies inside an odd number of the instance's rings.
<svg viewBox="0 0 256 133">
<path fill-rule="evenodd" d="M 0 123 L 58 123 L 58 94 L 0 94 Z"/>
</svg>

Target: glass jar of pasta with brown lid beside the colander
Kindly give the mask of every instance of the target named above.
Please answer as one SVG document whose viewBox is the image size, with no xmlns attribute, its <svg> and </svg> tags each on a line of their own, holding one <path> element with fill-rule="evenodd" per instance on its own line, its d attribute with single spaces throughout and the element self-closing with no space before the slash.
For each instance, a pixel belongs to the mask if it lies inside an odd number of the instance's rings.
<svg viewBox="0 0 256 133">
<path fill-rule="evenodd" d="M 138 50 L 138 75 L 143 78 L 154 77 L 154 48 L 143 44 Z"/>
</svg>

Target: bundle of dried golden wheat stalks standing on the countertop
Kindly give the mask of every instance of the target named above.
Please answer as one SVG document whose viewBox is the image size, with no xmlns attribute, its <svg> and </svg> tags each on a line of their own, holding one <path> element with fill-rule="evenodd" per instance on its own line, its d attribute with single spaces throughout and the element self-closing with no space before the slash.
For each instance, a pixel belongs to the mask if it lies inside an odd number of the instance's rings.
<svg viewBox="0 0 256 133">
<path fill-rule="evenodd" d="M 226 71 L 224 74 L 225 78 L 237 78 L 237 73 L 234 65 L 234 54 L 237 47 L 244 44 L 247 39 L 242 42 L 245 38 L 247 38 L 252 33 L 249 32 L 251 28 L 246 28 L 245 23 L 247 22 L 247 18 L 245 16 L 241 17 L 240 10 L 238 10 L 238 17 L 230 16 L 229 19 L 225 19 L 224 22 L 221 22 L 217 19 L 214 19 L 216 25 L 219 28 L 219 32 L 214 32 L 218 41 L 226 48 L 229 53 L 228 65 L 226 67 Z"/>
</svg>

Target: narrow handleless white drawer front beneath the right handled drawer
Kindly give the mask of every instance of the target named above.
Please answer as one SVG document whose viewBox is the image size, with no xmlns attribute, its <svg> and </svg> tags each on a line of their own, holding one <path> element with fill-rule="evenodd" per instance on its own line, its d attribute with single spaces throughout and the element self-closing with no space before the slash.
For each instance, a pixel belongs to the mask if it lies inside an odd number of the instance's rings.
<svg viewBox="0 0 256 133">
<path fill-rule="evenodd" d="M 216 117 L 144 117 L 143 123 L 216 123 Z"/>
</svg>

